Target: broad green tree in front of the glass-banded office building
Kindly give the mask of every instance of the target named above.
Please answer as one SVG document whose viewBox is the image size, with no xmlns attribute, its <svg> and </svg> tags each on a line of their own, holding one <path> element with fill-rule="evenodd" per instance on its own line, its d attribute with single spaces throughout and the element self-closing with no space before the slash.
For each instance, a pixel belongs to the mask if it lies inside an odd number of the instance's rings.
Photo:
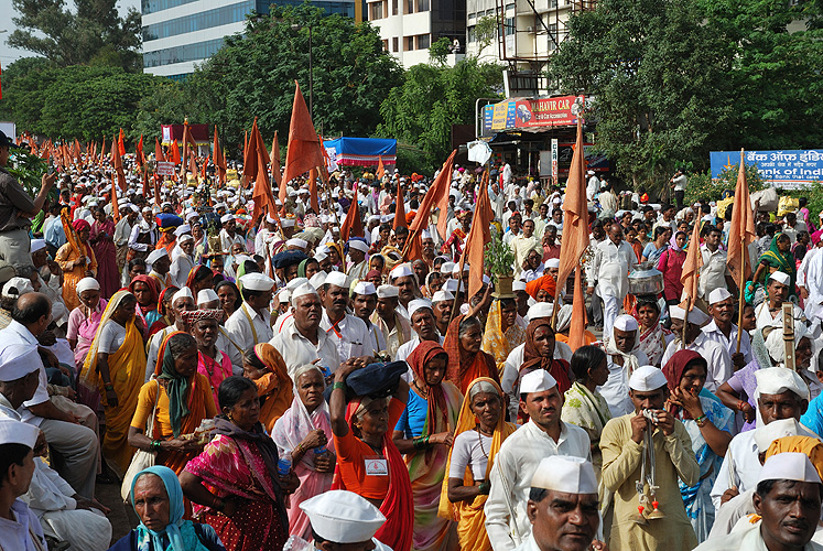
<svg viewBox="0 0 823 551">
<path fill-rule="evenodd" d="M 310 28 L 315 127 L 325 136 L 370 136 L 380 104 L 402 83 L 402 69 L 369 23 L 324 17 L 310 4 L 252 14 L 245 34 L 228 37 L 186 80 L 191 110 L 208 116 L 202 122 L 218 125 L 230 143 L 242 143 L 253 117 L 266 139 L 278 130 L 284 142 L 295 79 L 310 100 Z"/>
</svg>

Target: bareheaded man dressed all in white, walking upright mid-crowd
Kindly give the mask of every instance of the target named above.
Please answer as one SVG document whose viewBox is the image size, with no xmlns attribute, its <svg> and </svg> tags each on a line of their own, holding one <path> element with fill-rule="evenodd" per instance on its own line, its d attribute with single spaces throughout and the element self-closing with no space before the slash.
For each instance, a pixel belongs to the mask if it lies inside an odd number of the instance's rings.
<svg viewBox="0 0 823 551">
<path fill-rule="evenodd" d="M 603 334 L 611 334 L 611 325 L 620 310 L 620 304 L 629 291 L 629 272 L 637 264 L 637 255 L 629 244 L 622 240 L 622 227 L 611 224 L 608 239 L 595 247 L 595 255 L 586 269 L 589 295 L 597 292 L 603 299 Z"/>
</svg>

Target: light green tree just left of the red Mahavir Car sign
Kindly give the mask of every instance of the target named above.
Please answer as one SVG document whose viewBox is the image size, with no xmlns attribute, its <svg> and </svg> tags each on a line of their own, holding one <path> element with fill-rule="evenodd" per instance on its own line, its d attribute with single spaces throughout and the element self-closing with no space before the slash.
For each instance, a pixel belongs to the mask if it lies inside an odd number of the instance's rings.
<svg viewBox="0 0 823 551">
<path fill-rule="evenodd" d="M 454 67 L 414 65 L 380 106 L 377 134 L 416 147 L 440 165 L 451 153 L 452 125 L 473 123 L 477 98 L 498 97 L 501 86 L 500 67 L 474 57 Z"/>
</svg>

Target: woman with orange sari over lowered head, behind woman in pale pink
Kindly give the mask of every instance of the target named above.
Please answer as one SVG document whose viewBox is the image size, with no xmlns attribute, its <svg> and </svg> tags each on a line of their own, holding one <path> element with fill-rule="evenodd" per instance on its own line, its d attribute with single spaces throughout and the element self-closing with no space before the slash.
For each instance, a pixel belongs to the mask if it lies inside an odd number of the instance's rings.
<svg viewBox="0 0 823 551">
<path fill-rule="evenodd" d="M 243 355 L 242 374 L 255 381 L 260 397 L 260 422 L 271 433 L 294 398 L 285 360 L 269 343 L 260 343 Z"/>
</svg>

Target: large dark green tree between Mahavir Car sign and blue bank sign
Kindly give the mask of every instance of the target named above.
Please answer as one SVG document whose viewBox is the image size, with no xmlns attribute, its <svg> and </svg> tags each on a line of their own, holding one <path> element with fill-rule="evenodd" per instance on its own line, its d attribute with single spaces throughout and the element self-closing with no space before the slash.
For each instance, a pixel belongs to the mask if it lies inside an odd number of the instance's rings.
<svg viewBox="0 0 823 551">
<path fill-rule="evenodd" d="M 675 165 L 703 169 L 728 144 L 730 66 L 695 0 L 604 0 L 571 19 L 549 74 L 562 93 L 595 96 L 595 142 L 621 176 L 668 190 Z"/>
</svg>

